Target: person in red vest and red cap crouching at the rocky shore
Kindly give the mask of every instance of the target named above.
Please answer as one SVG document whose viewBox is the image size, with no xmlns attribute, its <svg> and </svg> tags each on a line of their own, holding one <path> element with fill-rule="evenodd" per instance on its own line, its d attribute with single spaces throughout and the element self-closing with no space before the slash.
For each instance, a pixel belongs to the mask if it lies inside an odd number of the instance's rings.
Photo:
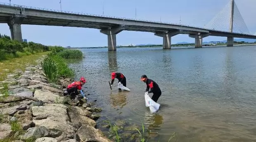
<svg viewBox="0 0 256 142">
<path fill-rule="evenodd" d="M 80 78 L 80 81 L 73 82 L 68 85 L 66 88 L 66 91 L 64 92 L 64 95 L 70 95 L 71 99 L 74 99 L 77 95 L 79 95 L 78 90 L 80 91 L 81 95 L 83 96 L 83 99 L 86 99 L 82 86 L 86 83 L 86 80 L 84 77 Z"/>
</svg>

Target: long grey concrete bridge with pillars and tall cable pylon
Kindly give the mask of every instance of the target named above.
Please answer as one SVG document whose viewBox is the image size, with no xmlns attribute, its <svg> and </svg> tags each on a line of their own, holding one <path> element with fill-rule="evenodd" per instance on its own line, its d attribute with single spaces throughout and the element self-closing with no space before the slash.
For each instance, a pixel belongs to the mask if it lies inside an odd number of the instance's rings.
<svg viewBox="0 0 256 142">
<path fill-rule="evenodd" d="M 256 35 L 254 34 L 232 31 L 235 7 L 234 0 L 231 0 L 230 5 L 232 14 L 230 17 L 229 31 L 166 22 L 106 17 L 95 14 L 10 5 L 6 3 L 0 3 L 0 23 L 7 23 L 12 39 L 20 41 L 22 41 L 21 24 L 97 28 L 101 33 L 107 35 L 108 50 L 116 50 L 116 34 L 123 30 L 152 32 L 156 36 L 163 37 L 164 49 L 171 49 L 171 37 L 178 34 L 188 34 L 189 37 L 195 38 L 195 47 L 202 47 L 202 39 L 207 36 L 227 37 L 227 46 L 233 46 L 234 38 L 256 39 Z"/>
</svg>

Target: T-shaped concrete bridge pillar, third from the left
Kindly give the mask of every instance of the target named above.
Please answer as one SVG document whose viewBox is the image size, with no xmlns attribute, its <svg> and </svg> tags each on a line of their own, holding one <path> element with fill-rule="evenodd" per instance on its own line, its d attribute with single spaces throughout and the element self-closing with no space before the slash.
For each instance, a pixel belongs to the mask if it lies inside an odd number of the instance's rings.
<svg viewBox="0 0 256 142">
<path fill-rule="evenodd" d="M 171 37 L 178 35 L 180 31 L 155 33 L 154 35 L 163 37 L 163 49 L 171 49 Z"/>
</svg>

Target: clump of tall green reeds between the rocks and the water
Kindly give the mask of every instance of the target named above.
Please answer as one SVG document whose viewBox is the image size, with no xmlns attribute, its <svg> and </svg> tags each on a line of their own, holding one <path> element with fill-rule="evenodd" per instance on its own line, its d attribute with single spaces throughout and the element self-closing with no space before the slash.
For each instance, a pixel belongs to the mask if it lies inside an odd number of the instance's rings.
<svg viewBox="0 0 256 142">
<path fill-rule="evenodd" d="M 69 68 L 66 59 L 81 59 L 83 53 L 80 50 L 69 50 L 63 47 L 50 47 L 51 52 L 41 62 L 45 76 L 54 83 L 59 77 L 74 78 L 73 69 Z"/>
</svg>

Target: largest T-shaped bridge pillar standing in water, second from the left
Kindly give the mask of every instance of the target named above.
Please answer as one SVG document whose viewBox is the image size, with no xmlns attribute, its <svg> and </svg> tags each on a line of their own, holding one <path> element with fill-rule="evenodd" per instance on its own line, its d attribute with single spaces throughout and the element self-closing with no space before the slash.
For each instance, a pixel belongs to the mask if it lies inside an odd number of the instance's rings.
<svg viewBox="0 0 256 142">
<path fill-rule="evenodd" d="M 100 30 L 101 33 L 107 35 L 108 50 L 116 51 L 116 34 L 120 33 L 123 30 L 123 27 L 114 27 Z"/>
</svg>

